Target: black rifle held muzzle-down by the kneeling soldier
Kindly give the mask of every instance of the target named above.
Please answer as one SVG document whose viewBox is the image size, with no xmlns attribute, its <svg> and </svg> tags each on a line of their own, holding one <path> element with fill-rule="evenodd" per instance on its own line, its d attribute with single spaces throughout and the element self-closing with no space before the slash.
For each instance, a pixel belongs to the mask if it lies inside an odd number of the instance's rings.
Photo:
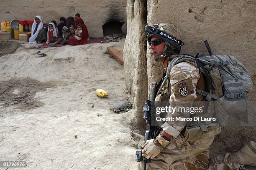
<svg viewBox="0 0 256 170">
<path fill-rule="evenodd" d="M 149 139 L 154 139 L 157 136 L 157 133 L 160 133 L 159 130 L 157 130 L 157 126 L 151 126 L 151 102 L 154 105 L 154 101 L 156 98 L 156 92 L 158 91 L 158 86 L 156 82 L 153 82 L 151 85 L 151 98 L 150 100 L 145 100 L 145 106 L 143 107 L 143 119 L 146 120 L 146 131 L 145 131 L 145 138 L 144 138 L 144 144 Z M 142 156 L 142 150 L 137 149 L 136 150 L 136 161 L 141 162 L 141 160 L 144 161 L 144 170 L 146 170 L 147 163 L 151 162 L 151 159 L 147 159 Z"/>
</svg>

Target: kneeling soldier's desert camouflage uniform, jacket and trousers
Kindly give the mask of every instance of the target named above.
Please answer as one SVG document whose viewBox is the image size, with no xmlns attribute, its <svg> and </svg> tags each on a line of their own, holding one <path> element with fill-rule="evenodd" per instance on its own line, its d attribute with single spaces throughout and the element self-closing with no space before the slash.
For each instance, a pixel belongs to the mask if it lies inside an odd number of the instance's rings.
<svg viewBox="0 0 256 170">
<path fill-rule="evenodd" d="M 188 62 L 181 62 L 175 65 L 170 72 L 170 81 L 164 85 L 163 93 L 156 97 L 156 101 L 166 100 L 164 93 L 170 89 L 170 104 L 172 102 L 186 103 L 193 100 L 205 100 L 205 97 L 196 93 L 196 88 L 205 90 L 203 76 L 195 65 Z M 181 95 L 181 85 L 186 87 L 187 95 Z M 169 87 L 171 86 L 171 87 Z M 172 106 L 172 104 L 171 104 Z M 189 117 L 190 113 L 173 116 Z M 217 156 L 209 163 L 209 148 L 214 140 L 214 135 L 200 140 L 187 141 L 181 133 L 187 122 L 168 121 L 161 125 L 161 128 L 172 135 L 170 144 L 162 150 L 159 155 L 147 163 L 146 170 L 175 170 L 179 165 L 184 164 L 187 170 L 232 170 L 239 168 L 235 163 L 234 154 Z M 216 134 L 218 134 L 217 132 Z M 138 170 L 143 170 L 143 161 L 139 163 Z"/>
</svg>

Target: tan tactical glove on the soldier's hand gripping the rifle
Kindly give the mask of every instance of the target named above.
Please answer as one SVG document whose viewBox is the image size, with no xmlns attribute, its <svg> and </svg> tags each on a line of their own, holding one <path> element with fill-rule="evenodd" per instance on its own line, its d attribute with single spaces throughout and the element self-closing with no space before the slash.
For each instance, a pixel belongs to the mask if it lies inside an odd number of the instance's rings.
<svg viewBox="0 0 256 170">
<path fill-rule="evenodd" d="M 154 159 L 169 143 L 170 142 L 161 137 L 161 135 L 158 135 L 156 139 L 147 140 L 147 145 L 143 149 L 145 151 L 143 156 L 147 159 Z"/>
</svg>

